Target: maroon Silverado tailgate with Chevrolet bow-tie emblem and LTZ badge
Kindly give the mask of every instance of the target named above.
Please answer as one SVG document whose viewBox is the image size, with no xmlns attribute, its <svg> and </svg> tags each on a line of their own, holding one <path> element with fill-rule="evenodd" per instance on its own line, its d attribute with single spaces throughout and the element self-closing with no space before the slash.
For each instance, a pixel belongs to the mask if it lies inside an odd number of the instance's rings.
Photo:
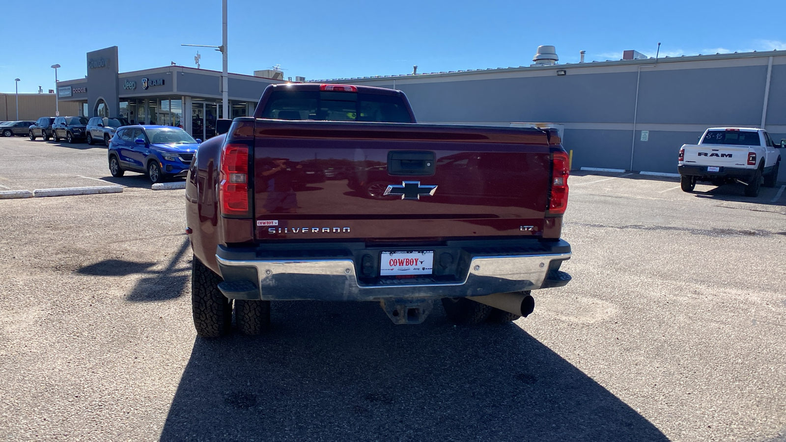
<svg viewBox="0 0 786 442">
<path fill-rule="evenodd" d="M 391 169 L 413 152 L 432 170 Z M 253 170 L 257 241 L 537 236 L 549 142 L 521 127 L 256 120 Z"/>
</svg>

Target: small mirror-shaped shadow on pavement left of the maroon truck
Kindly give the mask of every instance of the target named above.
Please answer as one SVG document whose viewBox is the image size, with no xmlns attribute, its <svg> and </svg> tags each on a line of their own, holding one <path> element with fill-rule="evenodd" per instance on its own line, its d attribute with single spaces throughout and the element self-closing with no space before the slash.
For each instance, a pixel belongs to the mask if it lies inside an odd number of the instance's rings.
<svg viewBox="0 0 786 442">
<path fill-rule="evenodd" d="M 152 270 L 159 263 L 140 263 L 128 260 L 103 260 L 77 269 L 76 273 L 93 276 L 143 275 L 128 293 L 129 302 L 155 302 L 180 297 L 191 277 L 191 267 L 183 267 L 180 260 L 189 250 L 188 238 L 171 257 L 163 270 Z M 190 261 L 190 260 L 189 260 Z"/>
</svg>

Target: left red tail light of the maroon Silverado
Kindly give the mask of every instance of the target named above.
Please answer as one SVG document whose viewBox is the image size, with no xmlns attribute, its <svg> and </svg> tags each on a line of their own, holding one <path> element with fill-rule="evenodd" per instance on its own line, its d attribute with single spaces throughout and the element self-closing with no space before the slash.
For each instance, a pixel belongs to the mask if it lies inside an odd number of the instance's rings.
<svg viewBox="0 0 786 442">
<path fill-rule="evenodd" d="M 219 200 L 223 215 L 251 215 L 248 205 L 248 145 L 227 144 L 222 148 Z"/>
</svg>

